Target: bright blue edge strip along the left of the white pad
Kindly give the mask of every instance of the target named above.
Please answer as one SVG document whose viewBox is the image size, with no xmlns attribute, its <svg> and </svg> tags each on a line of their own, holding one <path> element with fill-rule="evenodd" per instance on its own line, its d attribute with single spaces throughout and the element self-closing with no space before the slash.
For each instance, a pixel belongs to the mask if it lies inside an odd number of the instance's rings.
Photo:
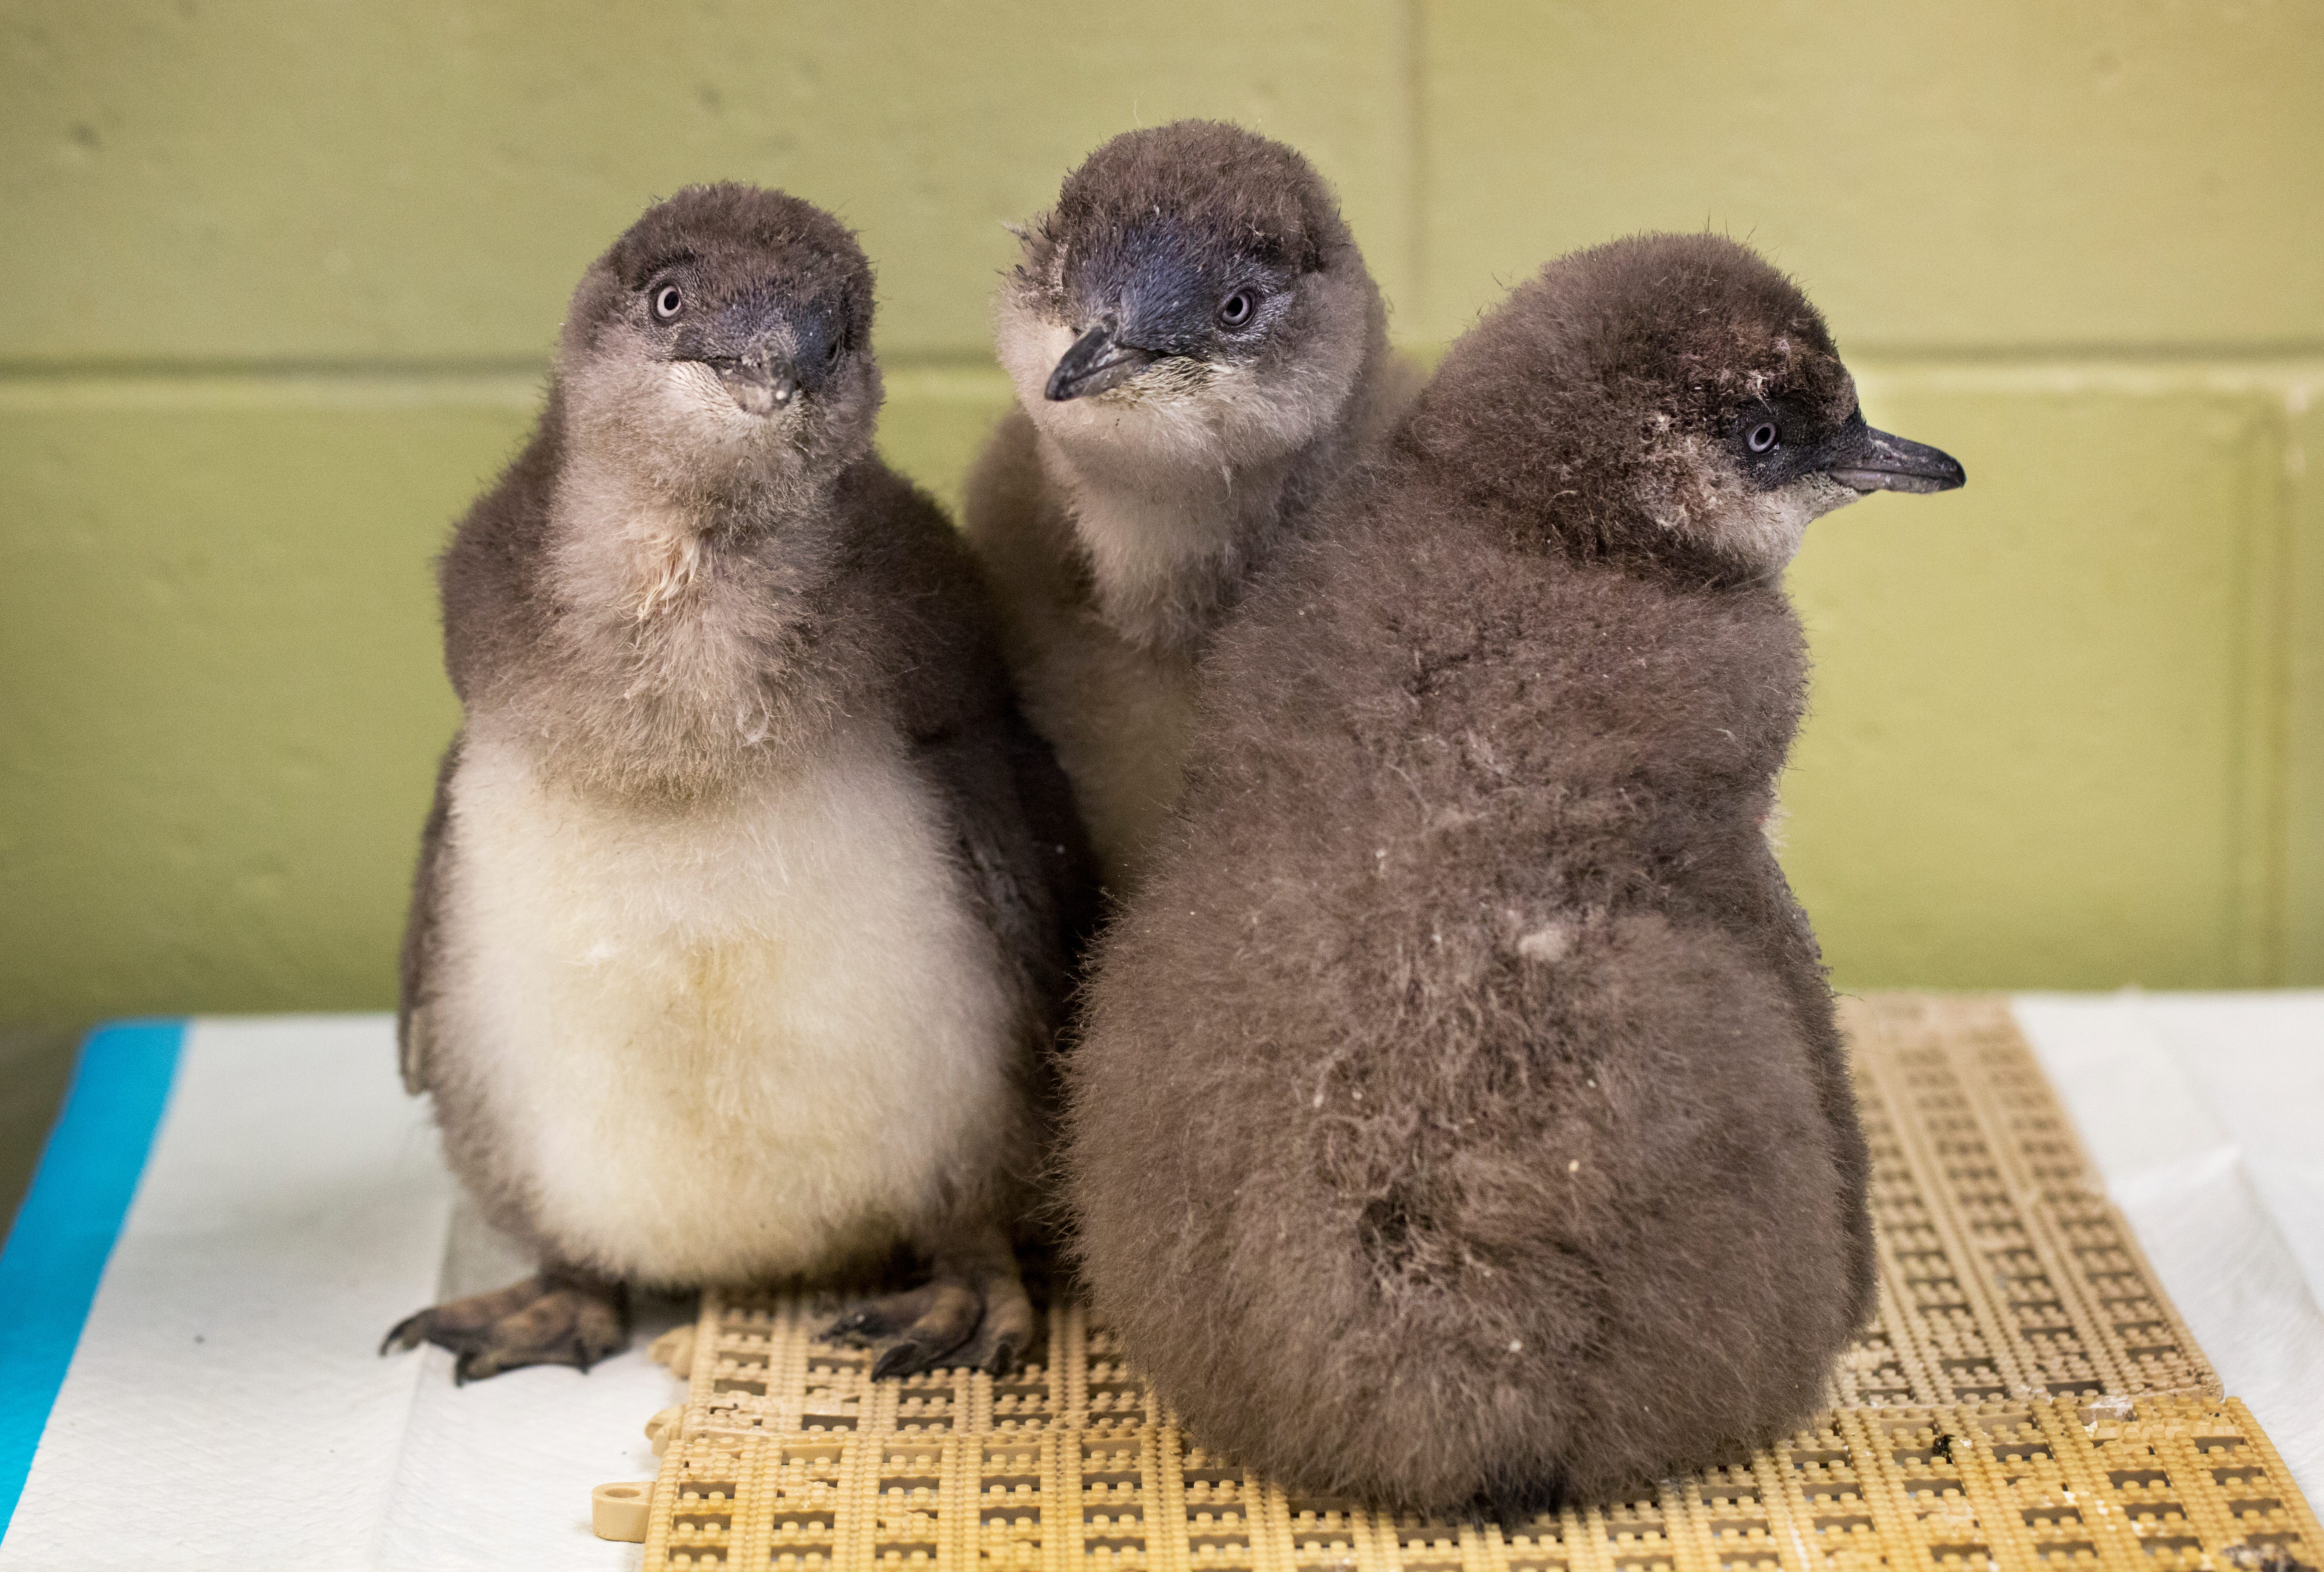
<svg viewBox="0 0 2324 1572">
<path fill-rule="evenodd" d="M 184 1039 L 184 1021 L 121 1021 L 88 1035 L 0 1249 L 0 1535 L 144 1174 Z"/>
</svg>

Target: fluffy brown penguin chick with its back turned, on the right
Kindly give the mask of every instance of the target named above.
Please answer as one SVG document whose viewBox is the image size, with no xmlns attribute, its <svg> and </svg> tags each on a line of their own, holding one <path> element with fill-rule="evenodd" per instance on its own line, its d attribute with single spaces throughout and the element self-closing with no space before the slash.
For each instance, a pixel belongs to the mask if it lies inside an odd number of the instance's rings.
<svg viewBox="0 0 2324 1572">
<path fill-rule="evenodd" d="M 1959 484 L 1783 274 L 1641 237 L 1478 323 L 1269 570 L 1069 1072 L 1095 1309 L 1206 1446 L 1513 1509 L 1815 1407 L 1873 1251 L 1759 835 L 1780 574 L 1817 514 Z"/>
</svg>

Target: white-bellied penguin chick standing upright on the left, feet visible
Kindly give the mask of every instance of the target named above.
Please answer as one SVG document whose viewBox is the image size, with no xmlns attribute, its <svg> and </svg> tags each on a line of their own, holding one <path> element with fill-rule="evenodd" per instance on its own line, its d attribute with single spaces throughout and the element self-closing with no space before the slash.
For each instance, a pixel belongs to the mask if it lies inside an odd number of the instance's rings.
<svg viewBox="0 0 2324 1572">
<path fill-rule="evenodd" d="M 934 1279 L 878 1372 L 1009 1365 L 1009 1226 L 1085 849 L 974 558 L 871 456 L 871 270 L 695 186 L 581 279 L 539 430 L 442 563 L 467 723 L 404 937 L 404 1079 L 541 1274 L 460 1379 L 590 1360 L 623 1284 Z"/>
</svg>

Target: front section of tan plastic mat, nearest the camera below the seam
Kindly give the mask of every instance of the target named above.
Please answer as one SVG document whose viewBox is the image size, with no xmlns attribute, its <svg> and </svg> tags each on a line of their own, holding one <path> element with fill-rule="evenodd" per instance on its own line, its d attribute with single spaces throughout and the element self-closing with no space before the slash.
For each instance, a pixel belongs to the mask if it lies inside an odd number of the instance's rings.
<svg viewBox="0 0 2324 1572">
<path fill-rule="evenodd" d="M 2103 1400 L 2101 1400 L 2103 1402 Z M 1171 1428 L 697 1435 L 646 1567 L 1713 1572 L 2287 1567 L 2317 1523 L 2240 1402 L 1838 1409 L 1636 1502 L 1513 1523 L 1287 1498 Z"/>
</svg>

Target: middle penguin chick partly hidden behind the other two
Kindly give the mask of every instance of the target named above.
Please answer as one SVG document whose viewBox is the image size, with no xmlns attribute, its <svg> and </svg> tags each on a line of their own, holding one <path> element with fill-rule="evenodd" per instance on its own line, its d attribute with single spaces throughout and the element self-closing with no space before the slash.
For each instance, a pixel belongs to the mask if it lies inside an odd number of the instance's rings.
<svg viewBox="0 0 2324 1572">
<path fill-rule="evenodd" d="M 964 526 L 1025 714 L 1127 888 L 1211 628 L 1418 374 L 1322 177 L 1218 121 L 1090 153 L 1025 230 L 995 340 L 1018 407 Z"/>
</svg>

